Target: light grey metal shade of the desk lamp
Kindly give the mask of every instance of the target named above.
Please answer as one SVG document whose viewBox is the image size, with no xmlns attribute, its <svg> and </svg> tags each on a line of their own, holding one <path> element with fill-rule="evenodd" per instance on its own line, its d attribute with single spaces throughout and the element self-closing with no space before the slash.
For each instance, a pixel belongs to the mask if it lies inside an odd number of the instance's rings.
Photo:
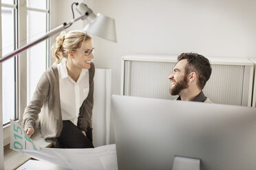
<svg viewBox="0 0 256 170">
<path fill-rule="evenodd" d="M 89 24 L 83 29 L 89 34 L 99 36 L 106 40 L 117 42 L 115 20 L 103 14 L 97 14 L 94 20 L 88 20 Z"/>
</svg>

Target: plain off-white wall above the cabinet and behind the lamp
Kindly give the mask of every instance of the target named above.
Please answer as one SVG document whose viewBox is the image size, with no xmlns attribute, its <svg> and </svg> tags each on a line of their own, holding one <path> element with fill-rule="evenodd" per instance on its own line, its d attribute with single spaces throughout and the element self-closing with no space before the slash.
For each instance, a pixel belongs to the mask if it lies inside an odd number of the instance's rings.
<svg viewBox="0 0 256 170">
<path fill-rule="evenodd" d="M 120 94 L 120 58 L 127 54 L 197 52 L 206 57 L 255 57 L 255 0 L 84 2 L 94 12 L 116 19 L 118 43 L 94 38 L 94 63 L 97 68 L 112 70 L 113 94 Z M 61 12 L 57 21 L 72 18 L 69 5 L 65 0 L 64 5 L 56 6 L 56 12 Z"/>
</svg>

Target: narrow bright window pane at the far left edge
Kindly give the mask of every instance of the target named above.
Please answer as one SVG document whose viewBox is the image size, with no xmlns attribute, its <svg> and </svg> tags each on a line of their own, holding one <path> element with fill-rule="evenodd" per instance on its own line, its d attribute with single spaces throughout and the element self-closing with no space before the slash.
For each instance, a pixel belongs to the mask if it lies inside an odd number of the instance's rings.
<svg viewBox="0 0 256 170">
<path fill-rule="evenodd" d="M 10 1 L 9 1 L 10 3 Z M 17 6 L 2 4 L 2 55 L 12 52 L 17 48 Z M 10 119 L 17 119 L 17 58 L 11 58 L 2 64 L 2 99 L 3 99 L 3 125 Z"/>
</svg>

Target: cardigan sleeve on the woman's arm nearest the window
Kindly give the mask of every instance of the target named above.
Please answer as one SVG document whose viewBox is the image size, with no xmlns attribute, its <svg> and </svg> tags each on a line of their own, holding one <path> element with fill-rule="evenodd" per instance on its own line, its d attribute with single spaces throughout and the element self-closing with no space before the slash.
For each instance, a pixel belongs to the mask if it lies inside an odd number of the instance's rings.
<svg viewBox="0 0 256 170">
<path fill-rule="evenodd" d="M 48 80 L 49 71 L 45 71 L 41 76 L 36 89 L 34 91 L 34 95 L 30 100 L 30 103 L 25 108 L 23 113 L 23 121 L 22 125 L 24 129 L 34 128 L 36 127 L 36 121 L 38 119 L 38 114 L 41 112 L 41 108 L 43 103 L 49 93 L 50 82 Z"/>
</svg>

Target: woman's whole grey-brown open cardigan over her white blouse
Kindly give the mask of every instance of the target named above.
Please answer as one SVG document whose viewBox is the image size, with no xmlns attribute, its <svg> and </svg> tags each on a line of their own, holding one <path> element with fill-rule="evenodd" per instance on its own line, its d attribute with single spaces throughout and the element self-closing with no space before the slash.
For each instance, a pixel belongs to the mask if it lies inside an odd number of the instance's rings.
<svg viewBox="0 0 256 170">
<path fill-rule="evenodd" d="M 91 62 L 89 69 L 89 93 L 79 110 L 77 126 L 80 130 L 87 131 L 92 127 L 92 108 L 94 106 L 94 72 L 95 67 Z M 39 114 L 40 113 L 40 114 Z M 30 104 L 23 113 L 22 124 L 24 128 L 36 129 L 36 121 L 39 120 L 39 130 L 46 141 L 54 146 L 56 137 L 60 136 L 63 128 L 61 117 L 61 102 L 59 94 L 58 69 L 52 66 L 43 73 L 36 86 Z"/>
</svg>

